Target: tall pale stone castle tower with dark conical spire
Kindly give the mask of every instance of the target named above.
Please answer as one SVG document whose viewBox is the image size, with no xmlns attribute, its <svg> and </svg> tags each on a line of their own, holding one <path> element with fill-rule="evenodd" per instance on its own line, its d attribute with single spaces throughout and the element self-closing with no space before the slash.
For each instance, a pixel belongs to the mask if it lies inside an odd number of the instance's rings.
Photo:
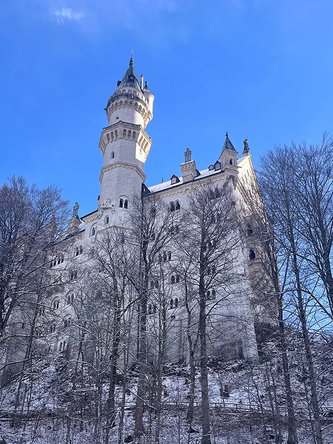
<svg viewBox="0 0 333 444">
<path fill-rule="evenodd" d="M 100 174 L 99 225 L 117 225 L 135 196 L 141 194 L 151 139 L 145 131 L 152 119 L 153 94 L 134 71 L 133 55 L 105 108 L 110 126 L 102 131 L 104 156 Z"/>
</svg>

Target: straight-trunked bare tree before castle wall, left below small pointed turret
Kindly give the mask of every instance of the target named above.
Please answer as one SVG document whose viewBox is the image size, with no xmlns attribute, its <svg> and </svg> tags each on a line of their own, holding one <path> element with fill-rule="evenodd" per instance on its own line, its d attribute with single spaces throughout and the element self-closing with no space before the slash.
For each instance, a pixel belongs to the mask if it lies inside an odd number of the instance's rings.
<svg viewBox="0 0 333 444">
<path fill-rule="evenodd" d="M 190 192 L 178 243 L 182 268 L 189 264 L 185 285 L 195 292 L 199 312 L 202 444 L 211 443 L 207 329 L 221 300 L 239 280 L 235 269 L 241 242 L 233 192 L 231 183 L 206 183 Z"/>
</svg>

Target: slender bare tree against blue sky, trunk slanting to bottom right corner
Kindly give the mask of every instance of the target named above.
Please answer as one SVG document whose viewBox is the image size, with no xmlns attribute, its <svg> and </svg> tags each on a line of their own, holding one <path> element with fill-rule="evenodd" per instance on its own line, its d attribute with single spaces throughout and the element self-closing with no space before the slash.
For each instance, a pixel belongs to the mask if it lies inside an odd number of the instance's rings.
<svg viewBox="0 0 333 444">
<path fill-rule="evenodd" d="M 311 407 L 315 430 L 315 442 L 322 444 L 322 428 L 318 403 L 318 391 L 314 358 L 311 349 L 308 304 L 310 270 L 303 260 L 310 252 L 300 229 L 302 209 L 295 187 L 297 156 L 293 149 L 276 147 L 261 159 L 260 182 L 265 208 L 273 221 L 275 239 L 279 245 L 280 259 L 288 267 L 286 291 L 295 295 L 295 308 L 300 324 L 306 366 L 310 381 Z M 287 260 L 288 259 L 288 260 Z"/>
</svg>

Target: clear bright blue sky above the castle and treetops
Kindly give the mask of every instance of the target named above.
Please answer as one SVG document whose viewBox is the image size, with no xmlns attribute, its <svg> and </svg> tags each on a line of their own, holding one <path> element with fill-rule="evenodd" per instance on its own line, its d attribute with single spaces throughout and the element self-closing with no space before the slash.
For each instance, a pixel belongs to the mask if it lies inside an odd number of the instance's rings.
<svg viewBox="0 0 333 444">
<path fill-rule="evenodd" d="M 146 184 L 199 169 L 224 134 L 256 162 L 332 130 L 332 0 L 1 0 L 0 183 L 58 185 L 93 211 L 103 108 L 134 50 L 155 95 Z"/>
</svg>

